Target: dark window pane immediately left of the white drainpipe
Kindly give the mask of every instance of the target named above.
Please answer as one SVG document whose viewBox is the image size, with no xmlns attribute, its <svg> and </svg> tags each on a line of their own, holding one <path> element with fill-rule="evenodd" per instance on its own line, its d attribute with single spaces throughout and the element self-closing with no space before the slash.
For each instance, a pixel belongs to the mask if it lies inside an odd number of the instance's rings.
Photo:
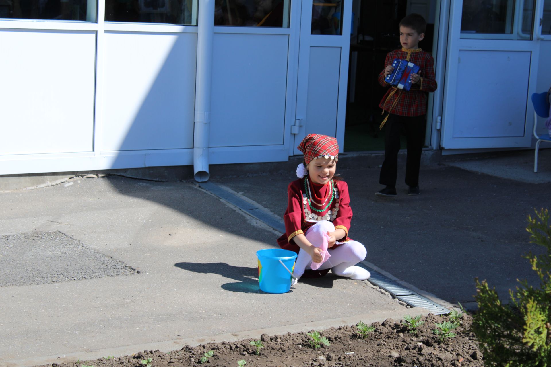
<svg viewBox="0 0 551 367">
<path fill-rule="evenodd" d="M 105 0 L 105 20 L 197 25 L 199 0 Z"/>
</svg>

